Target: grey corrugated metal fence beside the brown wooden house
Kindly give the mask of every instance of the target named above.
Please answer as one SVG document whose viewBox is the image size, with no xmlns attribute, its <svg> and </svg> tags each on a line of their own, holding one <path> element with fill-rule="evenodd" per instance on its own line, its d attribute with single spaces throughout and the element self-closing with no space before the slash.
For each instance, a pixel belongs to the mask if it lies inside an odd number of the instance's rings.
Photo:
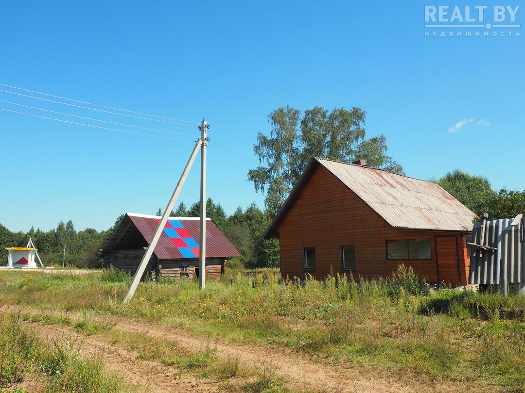
<svg viewBox="0 0 525 393">
<path fill-rule="evenodd" d="M 470 247 L 470 284 L 525 283 L 525 241 L 523 218 L 487 221 L 485 239 L 482 223 L 474 224 L 472 243 L 495 247 L 481 252 Z"/>
</svg>

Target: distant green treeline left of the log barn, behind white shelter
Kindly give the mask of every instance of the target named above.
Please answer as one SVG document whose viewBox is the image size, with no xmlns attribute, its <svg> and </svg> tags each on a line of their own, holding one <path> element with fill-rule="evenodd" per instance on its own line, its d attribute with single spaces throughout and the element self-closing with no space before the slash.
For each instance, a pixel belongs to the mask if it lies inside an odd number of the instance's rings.
<svg viewBox="0 0 525 393">
<path fill-rule="evenodd" d="M 11 232 L 0 224 L 0 247 L 25 247 L 29 238 L 38 248 L 38 255 L 47 266 L 61 266 L 66 246 L 66 264 L 74 267 L 98 268 L 101 266 L 99 249 L 106 244 L 114 227 L 98 232 L 92 228 L 77 232 L 73 222 L 60 221 L 56 228 L 42 231 L 31 227 L 29 232 Z M 2 253 L 6 258 L 7 253 Z"/>
</svg>

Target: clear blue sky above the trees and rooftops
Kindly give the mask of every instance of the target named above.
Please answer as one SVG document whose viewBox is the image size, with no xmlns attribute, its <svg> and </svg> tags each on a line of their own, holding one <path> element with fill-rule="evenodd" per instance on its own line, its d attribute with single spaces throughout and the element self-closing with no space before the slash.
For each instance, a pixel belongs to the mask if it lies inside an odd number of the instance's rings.
<svg viewBox="0 0 525 393">
<path fill-rule="evenodd" d="M 458 29 L 425 28 L 426 4 L 434 3 L 6 2 L 0 83 L 194 122 L 206 116 L 208 195 L 229 214 L 262 205 L 246 174 L 258 165 L 253 144 L 269 132 L 267 114 L 285 105 L 363 108 L 367 136 L 384 134 L 408 176 L 459 168 L 495 189 L 525 189 L 525 48 L 516 37 L 525 26 L 510 29 L 512 37 L 483 37 L 485 29 L 448 37 Z M 525 7 L 516 22 L 525 24 Z M 198 135 L 4 92 L 0 100 Z M 0 138 L 0 223 L 12 231 L 69 219 L 77 230 L 103 230 L 124 212 L 154 214 L 194 145 L 5 111 Z M 198 199 L 198 176 L 196 165 L 181 194 L 186 204 Z"/>
</svg>

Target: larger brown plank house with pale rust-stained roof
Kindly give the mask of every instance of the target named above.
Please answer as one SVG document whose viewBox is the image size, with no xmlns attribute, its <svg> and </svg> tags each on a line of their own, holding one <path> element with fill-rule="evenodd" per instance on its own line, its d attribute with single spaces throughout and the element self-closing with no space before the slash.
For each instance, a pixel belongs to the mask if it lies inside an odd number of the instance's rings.
<svg viewBox="0 0 525 393">
<path fill-rule="evenodd" d="M 435 183 L 312 158 L 265 238 L 279 238 L 283 276 L 377 278 L 404 264 L 456 286 L 467 284 L 474 218 Z"/>
</svg>

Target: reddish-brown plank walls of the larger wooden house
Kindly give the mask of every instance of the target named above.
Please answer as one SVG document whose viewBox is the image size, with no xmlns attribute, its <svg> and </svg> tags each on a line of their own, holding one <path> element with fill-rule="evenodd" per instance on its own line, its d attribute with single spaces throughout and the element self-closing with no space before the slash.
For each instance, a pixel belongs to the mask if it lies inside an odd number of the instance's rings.
<svg viewBox="0 0 525 393">
<path fill-rule="evenodd" d="M 319 166 L 277 230 L 281 274 L 304 278 L 303 248 L 316 248 L 316 277 L 341 270 L 341 246 L 355 247 L 355 276 L 386 277 L 399 264 L 412 266 L 419 276 L 437 283 L 435 236 L 457 237 L 461 285 L 466 285 L 468 258 L 463 234 L 393 230 L 327 169 Z M 386 259 L 386 241 L 430 239 L 432 259 Z"/>
</svg>

